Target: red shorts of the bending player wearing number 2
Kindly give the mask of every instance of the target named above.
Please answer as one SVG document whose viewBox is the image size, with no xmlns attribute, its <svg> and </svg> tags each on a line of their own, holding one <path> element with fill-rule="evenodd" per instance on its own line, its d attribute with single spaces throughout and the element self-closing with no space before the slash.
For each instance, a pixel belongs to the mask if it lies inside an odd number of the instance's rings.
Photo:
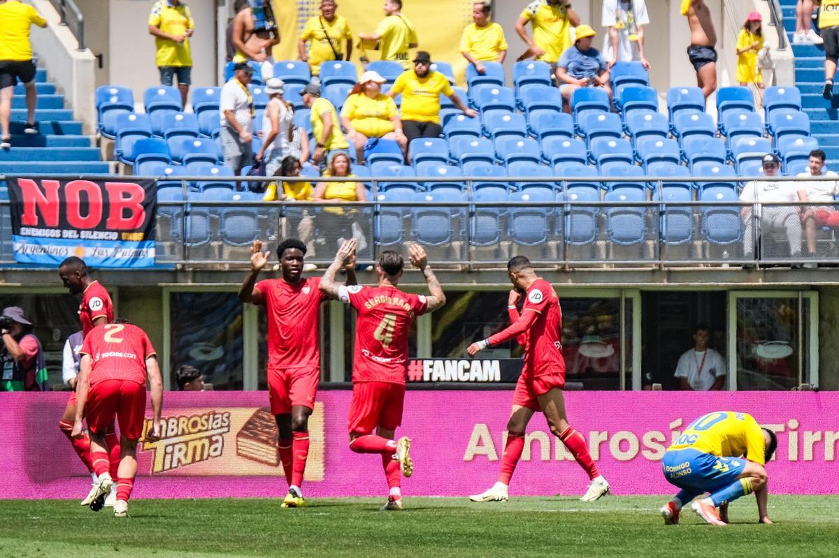
<svg viewBox="0 0 839 558">
<path fill-rule="evenodd" d="M 95 434 L 107 432 L 117 416 L 122 436 L 139 440 L 145 414 L 145 385 L 131 380 L 102 380 L 87 392 L 85 418 L 88 430 Z"/>
</svg>

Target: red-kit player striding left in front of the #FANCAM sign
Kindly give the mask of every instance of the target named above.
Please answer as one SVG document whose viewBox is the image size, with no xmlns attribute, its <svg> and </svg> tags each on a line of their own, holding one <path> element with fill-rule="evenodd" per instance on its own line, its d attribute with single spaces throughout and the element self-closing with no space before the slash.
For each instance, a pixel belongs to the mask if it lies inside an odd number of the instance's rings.
<svg viewBox="0 0 839 558">
<path fill-rule="evenodd" d="M 512 338 L 524 340 L 524 367 L 513 395 L 513 411 L 507 423 L 507 443 L 501 461 L 498 482 L 484 493 L 470 496 L 473 502 L 505 502 L 508 484 L 516 463 L 524 449 L 524 430 L 530 417 L 542 411 L 550 431 L 560 438 L 576 462 L 586 470 L 591 484 L 583 502 L 593 502 L 609 491 L 609 483 L 597 471 L 591 459 L 586 440 L 568 424 L 565 416 L 565 359 L 562 357 L 562 312 L 560 299 L 549 282 L 536 276 L 530 261 L 515 256 L 507 263 L 513 291 L 508 299 L 508 313 L 513 322 L 508 328 L 490 338 L 469 345 L 466 352 L 475 356 L 490 345 L 502 344 Z M 519 296 L 524 293 L 521 314 L 516 308 Z M 520 336 L 524 335 L 524 339 Z"/>
</svg>

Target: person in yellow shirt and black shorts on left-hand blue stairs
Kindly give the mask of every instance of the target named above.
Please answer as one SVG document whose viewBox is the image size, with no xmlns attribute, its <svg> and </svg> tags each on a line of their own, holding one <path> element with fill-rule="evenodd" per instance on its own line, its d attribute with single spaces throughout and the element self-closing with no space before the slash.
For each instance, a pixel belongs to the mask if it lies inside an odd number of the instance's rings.
<svg viewBox="0 0 839 558">
<path fill-rule="evenodd" d="M 35 104 L 35 65 L 32 62 L 32 45 L 29 44 L 29 25 L 46 27 L 47 22 L 38 10 L 17 0 L 0 3 L 0 148 L 12 147 L 8 121 L 12 110 L 12 95 L 18 79 L 26 89 L 26 127 L 23 132 L 37 134 Z"/>
</svg>

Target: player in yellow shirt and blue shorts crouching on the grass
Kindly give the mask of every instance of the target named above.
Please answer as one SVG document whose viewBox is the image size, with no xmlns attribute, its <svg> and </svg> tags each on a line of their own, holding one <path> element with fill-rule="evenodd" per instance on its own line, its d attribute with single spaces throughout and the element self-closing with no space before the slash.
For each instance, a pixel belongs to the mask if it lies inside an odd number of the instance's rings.
<svg viewBox="0 0 839 558">
<path fill-rule="evenodd" d="M 707 523 L 727 524 L 728 503 L 752 492 L 758 500 L 758 522 L 772 523 L 765 463 L 777 447 L 775 433 L 747 413 L 717 411 L 691 422 L 661 461 L 664 478 L 681 488 L 661 508 L 664 524 L 679 523 L 682 506 L 706 492 L 711 494 L 690 507 Z"/>
</svg>

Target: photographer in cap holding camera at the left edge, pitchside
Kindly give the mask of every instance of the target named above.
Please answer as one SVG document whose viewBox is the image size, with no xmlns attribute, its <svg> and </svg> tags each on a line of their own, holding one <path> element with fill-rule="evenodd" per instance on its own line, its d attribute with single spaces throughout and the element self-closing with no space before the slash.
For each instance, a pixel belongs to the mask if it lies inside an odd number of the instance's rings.
<svg viewBox="0 0 839 558">
<path fill-rule="evenodd" d="M 3 308 L 0 318 L 3 335 L 3 378 L 0 391 L 46 391 L 47 366 L 41 342 L 32 333 L 32 322 L 23 316 L 23 308 Z"/>
</svg>

